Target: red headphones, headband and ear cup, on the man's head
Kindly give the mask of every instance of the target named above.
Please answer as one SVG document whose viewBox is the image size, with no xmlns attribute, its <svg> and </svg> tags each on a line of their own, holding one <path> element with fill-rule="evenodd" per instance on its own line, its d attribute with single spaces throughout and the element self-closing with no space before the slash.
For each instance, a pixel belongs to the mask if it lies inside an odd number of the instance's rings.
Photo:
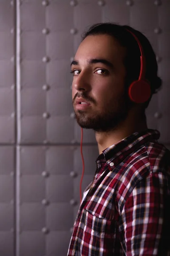
<svg viewBox="0 0 170 256">
<path fill-rule="evenodd" d="M 141 67 L 140 67 L 140 74 L 139 79 L 136 81 L 133 81 L 129 88 L 128 88 L 128 95 L 131 101 L 135 103 L 144 103 L 147 102 L 147 100 L 151 96 L 151 89 L 150 89 L 150 83 L 145 79 L 145 73 L 146 73 L 146 61 L 144 57 L 144 51 L 142 48 L 142 44 L 140 43 L 139 39 L 136 37 L 136 35 L 131 32 L 130 30 L 126 29 L 128 32 L 130 32 L 133 37 L 136 39 L 140 52 L 141 52 Z"/>
</svg>

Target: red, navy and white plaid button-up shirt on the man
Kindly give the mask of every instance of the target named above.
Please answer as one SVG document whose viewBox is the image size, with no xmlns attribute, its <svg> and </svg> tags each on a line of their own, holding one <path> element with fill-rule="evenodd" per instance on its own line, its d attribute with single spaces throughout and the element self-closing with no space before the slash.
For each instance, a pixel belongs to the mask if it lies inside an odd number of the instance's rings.
<svg viewBox="0 0 170 256">
<path fill-rule="evenodd" d="M 170 151 L 159 137 L 136 132 L 99 155 L 68 256 L 170 255 Z"/>
</svg>

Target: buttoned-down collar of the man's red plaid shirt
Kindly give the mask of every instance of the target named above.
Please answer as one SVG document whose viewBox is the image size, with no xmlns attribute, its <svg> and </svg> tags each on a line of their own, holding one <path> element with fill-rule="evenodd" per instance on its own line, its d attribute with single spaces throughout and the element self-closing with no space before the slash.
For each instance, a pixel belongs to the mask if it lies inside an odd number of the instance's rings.
<svg viewBox="0 0 170 256">
<path fill-rule="evenodd" d="M 125 157 L 147 142 L 156 142 L 160 137 L 160 132 L 153 129 L 135 132 L 128 137 L 120 140 L 102 151 L 102 154 L 96 160 L 96 164 L 107 162 L 109 169 L 112 170 Z M 114 163 L 111 164 L 111 163 Z M 111 164 L 111 165 L 110 165 Z M 113 165 L 113 166 L 112 166 Z"/>
</svg>

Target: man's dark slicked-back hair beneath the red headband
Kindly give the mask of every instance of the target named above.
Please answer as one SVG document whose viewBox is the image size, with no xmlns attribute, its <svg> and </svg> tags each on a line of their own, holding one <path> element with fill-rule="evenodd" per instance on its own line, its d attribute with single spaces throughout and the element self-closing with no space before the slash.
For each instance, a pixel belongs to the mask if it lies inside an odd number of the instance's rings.
<svg viewBox="0 0 170 256">
<path fill-rule="evenodd" d="M 158 65 L 156 55 L 148 39 L 138 30 L 130 26 L 122 26 L 116 23 L 96 23 L 91 26 L 88 31 L 82 35 L 82 41 L 88 35 L 111 35 L 119 42 L 119 44 L 127 49 L 127 55 L 124 60 L 125 68 L 127 70 L 127 77 L 125 81 L 125 89 L 127 90 L 130 83 L 139 78 L 140 73 L 140 56 L 141 52 L 136 39 L 131 35 L 130 30 L 137 36 L 144 51 L 146 59 L 146 74 L 145 79 L 150 82 L 151 93 L 157 93 L 161 87 L 162 81 L 157 75 Z M 151 97 L 152 97 L 151 95 Z M 150 97 L 150 99 L 151 99 Z M 150 99 L 144 103 L 143 107 L 147 108 Z"/>
</svg>

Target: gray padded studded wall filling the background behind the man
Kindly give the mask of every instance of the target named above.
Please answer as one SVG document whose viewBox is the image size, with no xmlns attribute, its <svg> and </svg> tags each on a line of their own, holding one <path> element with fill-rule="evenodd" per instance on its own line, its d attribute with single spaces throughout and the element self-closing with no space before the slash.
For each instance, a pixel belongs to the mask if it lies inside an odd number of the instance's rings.
<svg viewBox="0 0 170 256">
<path fill-rule="evenodd" d="M 67 254 L 82 172 L 69 71 L 88 25 L 129 24 L 150 40 L 163 87 L 147 122 L 170 148 L 169 12 L 170 0 L 0 0 L 0 256 Z M 85 189 L 94 132 L 83 142 Z"/>
</svg>

